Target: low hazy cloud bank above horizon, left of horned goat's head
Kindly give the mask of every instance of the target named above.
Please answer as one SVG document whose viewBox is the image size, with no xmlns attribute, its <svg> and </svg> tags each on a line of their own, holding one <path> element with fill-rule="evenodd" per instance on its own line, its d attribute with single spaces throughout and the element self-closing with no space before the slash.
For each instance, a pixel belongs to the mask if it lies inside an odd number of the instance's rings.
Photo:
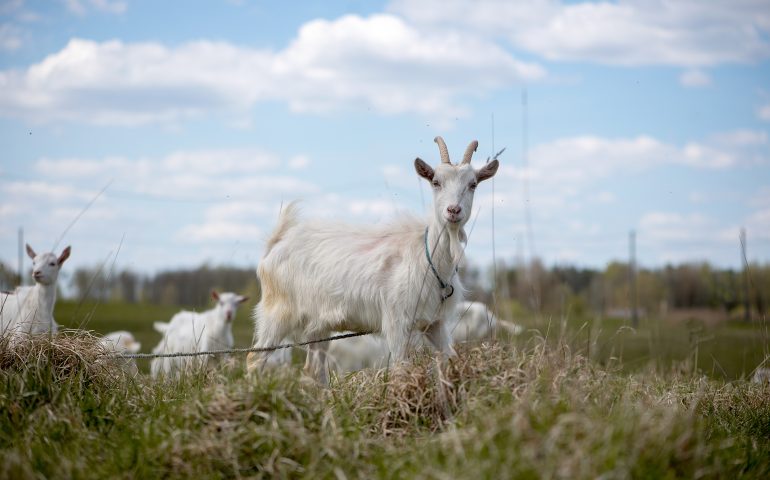
<svg viewBox="0 0 770 480">
<path fill-rule="evenodd" d="M 138 255 L 140 268 L 148 268 L 145 262 L 194 263 L 204 252 L 231 261 L 222 244 L 231 249 L 240 243 L 256 255 L 281 202 L 319 192 L 312 182 L 285 173 L 290 170 L 284 163 L 255 148 L 156 158 L 42 158 L 34 164 L 34 180 L 0 182 L 0 231 L 15 239 L 23 226 L 31 241 L 50 245 L 112 180 L 64 239 L 77 250 L 75 264 L 115 251 L 124 234 L 121 256 Z M 173 258 L 158 256 L 158 248 Z"/>
</svg>

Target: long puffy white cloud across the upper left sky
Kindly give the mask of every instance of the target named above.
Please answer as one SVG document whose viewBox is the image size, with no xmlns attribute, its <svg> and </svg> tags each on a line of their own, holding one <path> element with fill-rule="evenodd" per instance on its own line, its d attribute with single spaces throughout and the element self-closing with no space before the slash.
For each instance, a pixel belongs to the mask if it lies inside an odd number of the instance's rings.
<svg viewBox="0 0 770 480">
<path fill-rule="evenodd" d="M 463 113 L 464 97 L 544 76 L 476 36 L 424 33 L 392 15 L 348 15 L 308 22 L 281 51 L 72 39 L 25 70 L 0 72 L 0 114 L 136 125 L 243 117 L 260 101 L 282 100 L 298 112 L 449 118 Z"/>
</svg>

